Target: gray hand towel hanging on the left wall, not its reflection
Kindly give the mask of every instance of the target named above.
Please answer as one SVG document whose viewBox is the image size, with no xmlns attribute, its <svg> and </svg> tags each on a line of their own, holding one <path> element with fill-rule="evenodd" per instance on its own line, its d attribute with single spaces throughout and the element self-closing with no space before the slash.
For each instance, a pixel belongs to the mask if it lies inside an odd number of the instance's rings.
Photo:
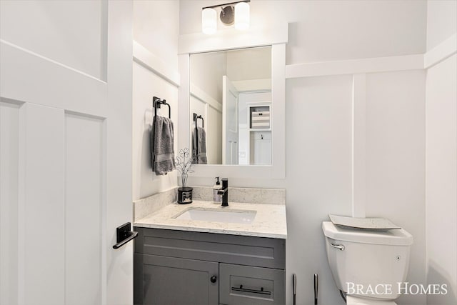
<svg viewBox="0 0 457 305">
<path fill-rule="evenodd" d="M 154 116 L 151 128 L 152 170 L 165 175 L 176 169 L 174 161 L 174 127 L 171 119 Z"/>
</svg>

